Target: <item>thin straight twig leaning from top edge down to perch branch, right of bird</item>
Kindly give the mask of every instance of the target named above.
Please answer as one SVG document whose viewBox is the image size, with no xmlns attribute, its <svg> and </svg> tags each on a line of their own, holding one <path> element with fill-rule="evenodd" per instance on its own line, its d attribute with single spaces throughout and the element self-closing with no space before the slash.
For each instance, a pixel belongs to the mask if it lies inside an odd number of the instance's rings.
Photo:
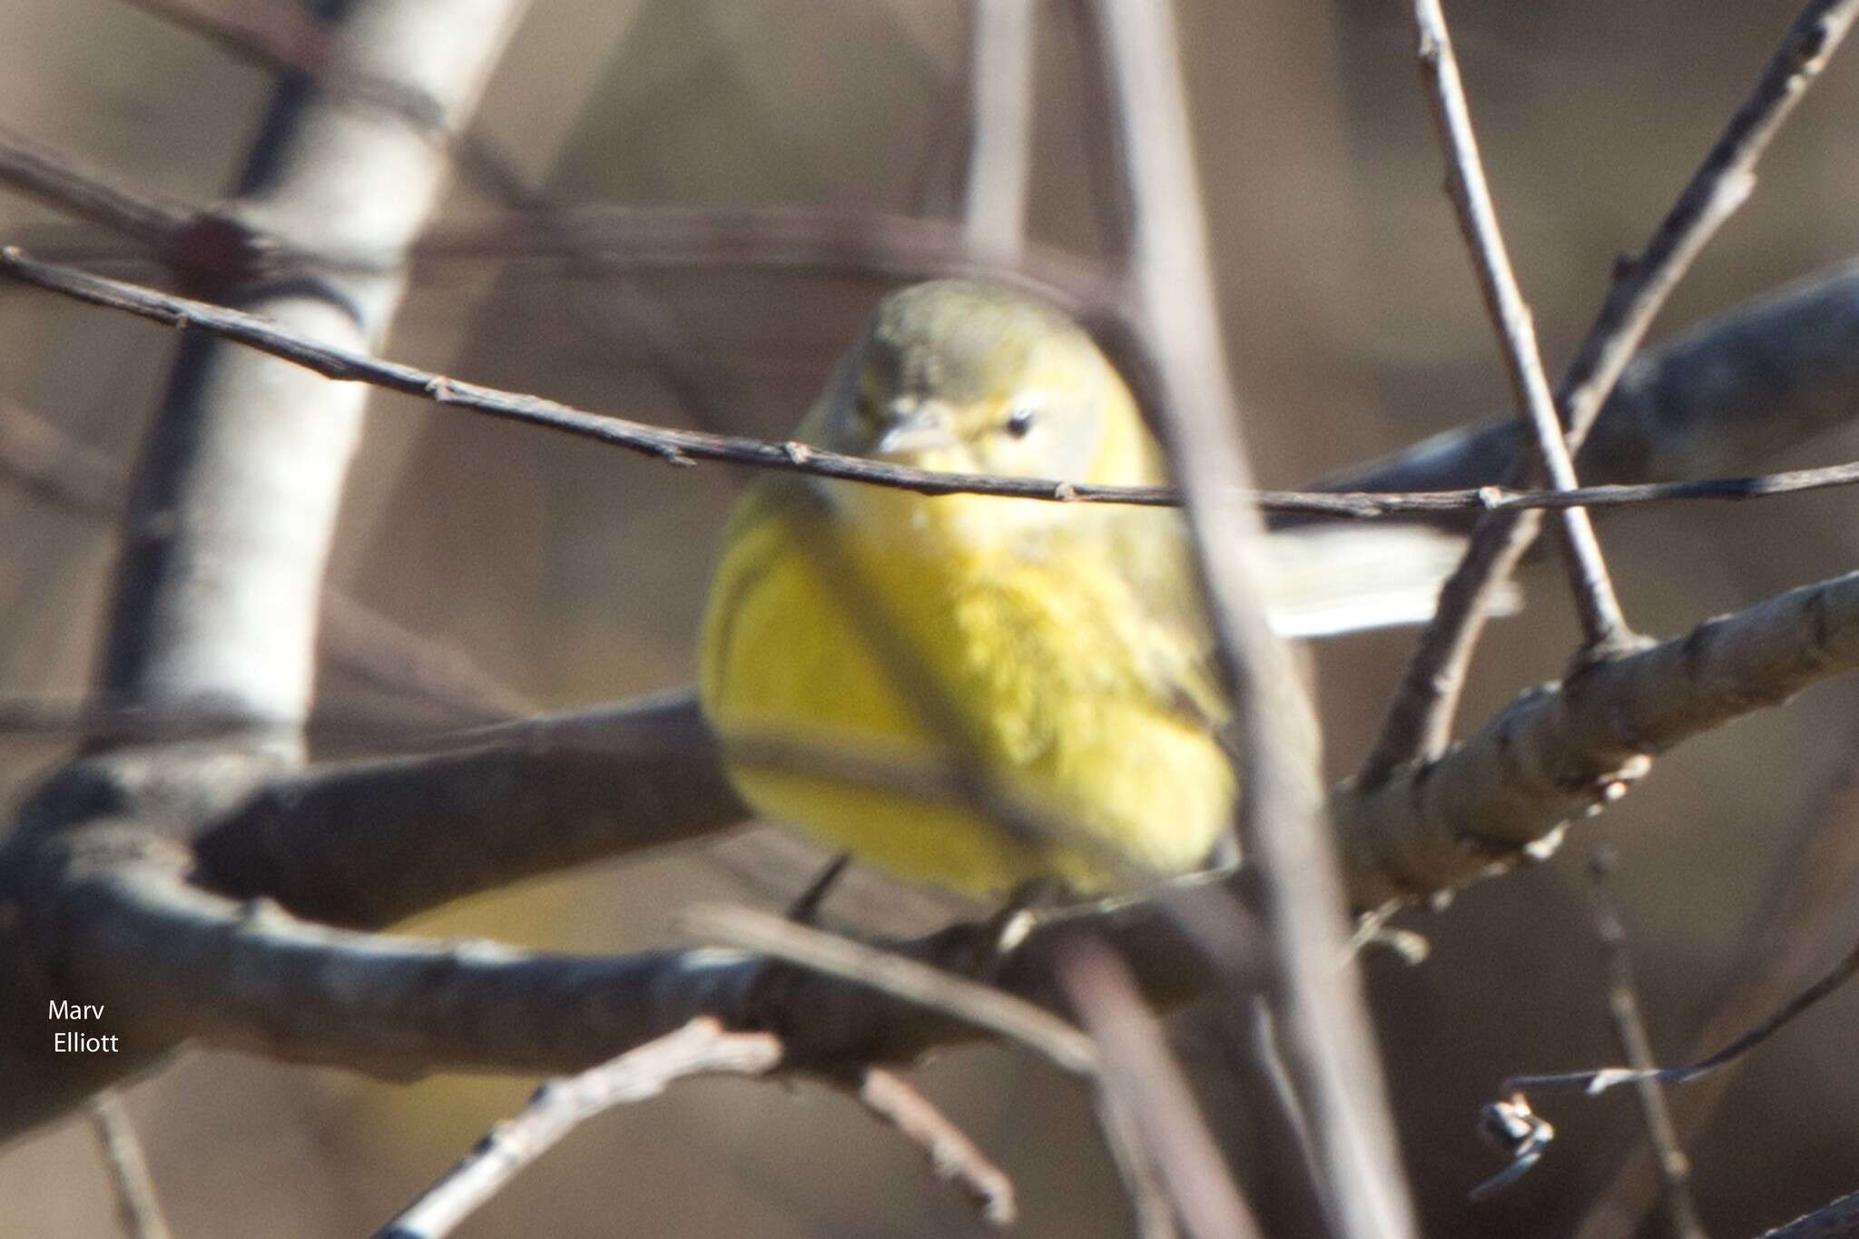
<svg viewBox="0 0 1859 1239">
<path fill-rule="evenodd" d="M 1452 54 L 1446 15 L 1439 0 L 1415 0 L 1413 20 L 1420 35 L 1420 74 L 1430 87 L 1428 100 L 1433 104 L 1433 121 L 1444 147 L 1446 186 L 1478 271 L 1478 288 L 1498 333 L 1511 398 L 1530 427 L 1543 476 L 1556 490 L 1573 490 L 1580 485 L 1575 461 L 1562 438 L 1556 398 L 1549 390 L 1549 375 L 1543 373 L 1543 357 L 1536 344 L 1536 323 L 1517 286 L 1498 228 L 1496 206 L 1491 201 L 1491 186 L 1478 158 L 1478 139 L 1472 134 L 1465 85 L 1459 80 L 1459 61 Z M 1627 619 L 1621 615 L 1586 509 L 1562 511 L 1562 548 L 1586 646 L 1593 650 L 1621 646 L 1630 637 Z M 1493 587 L 1496 583 L 1493 581 Z M 1489 604 L 1491 591 L 1485 591 L 1474 606 L 1483 609 Z"/>
</svg>

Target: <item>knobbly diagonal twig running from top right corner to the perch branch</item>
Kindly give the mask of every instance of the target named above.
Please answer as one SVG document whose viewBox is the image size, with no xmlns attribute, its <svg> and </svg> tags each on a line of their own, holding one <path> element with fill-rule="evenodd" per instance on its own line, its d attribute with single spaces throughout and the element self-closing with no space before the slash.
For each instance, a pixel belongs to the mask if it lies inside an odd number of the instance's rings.
<svg viewBox="0 0 1859 1239">
<path fill-rule="evenodd" d="M 1615 284 L 1558 388 L 1556 405 L 1571 451 L 1580 451 L 1595 416 L 1673 286 L 1749 195 L 1757 160 L 1826 67 L 1855 13 L 1859 0 L 1813 0 L 1803 9 L 1645 251 L 1615 271 Z M 1439 611 L 1420 635 L 1381 736 L 1363 762 L 1359 780 L 1365 786 L 1444 747 L 1482 632 L 1483 600 L 1491 583 L 1515 568 L 1536 541 L 1537 528 L 1539 518 L 1528 513 L 1480 522 L 1465 561 L 1441 591 Z"/>
</svg>

